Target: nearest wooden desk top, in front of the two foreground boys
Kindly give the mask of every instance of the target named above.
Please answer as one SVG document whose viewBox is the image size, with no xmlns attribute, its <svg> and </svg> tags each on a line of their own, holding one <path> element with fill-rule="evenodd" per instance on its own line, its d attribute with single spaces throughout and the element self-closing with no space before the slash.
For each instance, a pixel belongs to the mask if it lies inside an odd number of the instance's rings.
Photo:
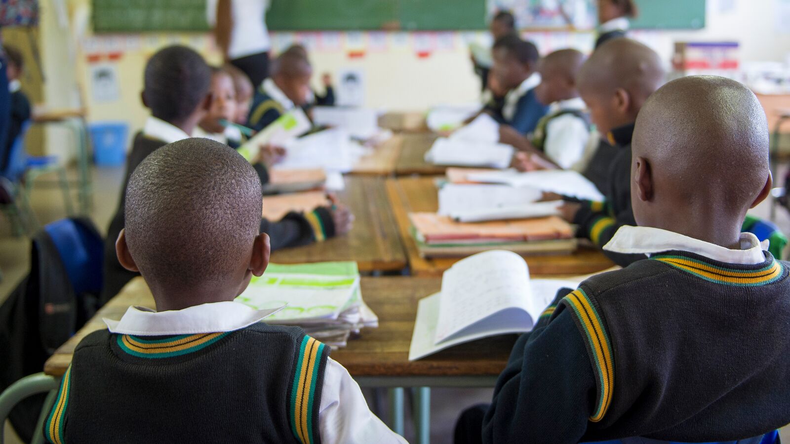
<svg viewBox="0 0 790 444">
<path fill-rule="evenodd" d="M 363 277 L 365 302 L 379 318 L 375 329 L 363 329 L 360 337 L 331 356 L 354 377 L 360 376 L 496 376 L 505 368 L 516 335 L 489 337 L 460 344 L 414 362 L 408 347 L 417 313 L 417 301 L 441 287 L 441 279 L 418 277 Z M 97 329 L 101 318 L 120 319 L 130 305 L 153 307 L 145 280 L 136 277 L 111 299 L 77 334 L 66 341 L 44 365 L 47 374 L 60 376 L 71 363 L 74 348 Z"/>
</svg>

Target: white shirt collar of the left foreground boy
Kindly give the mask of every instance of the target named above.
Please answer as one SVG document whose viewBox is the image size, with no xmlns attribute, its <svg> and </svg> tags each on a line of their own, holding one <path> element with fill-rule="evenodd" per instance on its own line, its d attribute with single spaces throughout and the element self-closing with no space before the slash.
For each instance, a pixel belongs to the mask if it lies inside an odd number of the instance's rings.
<svg viewBox="0 0 790 444">
<path fill-rule="evenodd" d="M 145 307 L 129 307 L 120 321 L 103 318 L 112 333 L 165 336 L 230 332 L 260 322 L 283 307 L 254 310 L 235 301 L 204 303 L 183 310 L 156 312 Z"/>
</svg>

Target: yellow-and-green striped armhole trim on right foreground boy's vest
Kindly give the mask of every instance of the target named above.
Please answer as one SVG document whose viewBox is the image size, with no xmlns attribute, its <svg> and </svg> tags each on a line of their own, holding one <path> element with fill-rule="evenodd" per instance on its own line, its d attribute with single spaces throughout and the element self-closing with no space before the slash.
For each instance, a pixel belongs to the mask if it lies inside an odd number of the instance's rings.
<svg viewBox="0 0 790 444">
<path fill-rule="evenodd" d="M 583 327 L 592 361 L 592 369 L 598 377 L 598 401 L 589 420 L 593 423 L 604 418 L 611 405 L 611 395 L 615 387 L 615 366 L 611 341 L 604 328 L 598 311 L 581 288 L 562 299 L 576 315 L 578 324 Z"/>
</svg>

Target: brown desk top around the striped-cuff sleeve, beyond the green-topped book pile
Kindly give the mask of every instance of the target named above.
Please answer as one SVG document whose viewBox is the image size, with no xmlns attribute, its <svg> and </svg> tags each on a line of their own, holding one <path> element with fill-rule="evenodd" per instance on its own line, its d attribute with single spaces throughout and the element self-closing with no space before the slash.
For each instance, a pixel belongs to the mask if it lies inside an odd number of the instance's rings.
<svg viewBox="0 0 790 444">
<path fill-rule="evenodd" d="M 272 262 L 356 261 L 362 272 L 404 269 L 406 256 L 386 196 L 384 179 L 347 176 L 345 184 L 345 190 L 337 193 L 337 197 L 356 217 L 352 230 L 324 242 L 274 251 Z"/>
</svg>

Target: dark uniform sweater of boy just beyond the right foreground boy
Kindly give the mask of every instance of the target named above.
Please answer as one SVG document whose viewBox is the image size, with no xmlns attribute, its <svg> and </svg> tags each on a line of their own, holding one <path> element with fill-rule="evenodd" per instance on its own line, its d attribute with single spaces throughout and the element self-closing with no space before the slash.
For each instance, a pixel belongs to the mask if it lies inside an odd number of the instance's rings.
<svg viewBox="0 0 790 444">
<path fill-rule="evenodd" d="M 603 202 L 581 201 L 581 208 L 574 217 L 579 226 L 577 237 L 590 239 L 596 246 L 606 245 L 623 225 L 636 225 L 631 208 L 631 137 L 634 124 L 619 126 L 609 132 L 608 141 L 617 147 L 617 153 L 608 168 L 608 183 L 604 186 Z M 604 254 L 617 265 L 626 266 L 644 258 L 643 254 L 619 254 L 604 250 Z"/>
</svg>

